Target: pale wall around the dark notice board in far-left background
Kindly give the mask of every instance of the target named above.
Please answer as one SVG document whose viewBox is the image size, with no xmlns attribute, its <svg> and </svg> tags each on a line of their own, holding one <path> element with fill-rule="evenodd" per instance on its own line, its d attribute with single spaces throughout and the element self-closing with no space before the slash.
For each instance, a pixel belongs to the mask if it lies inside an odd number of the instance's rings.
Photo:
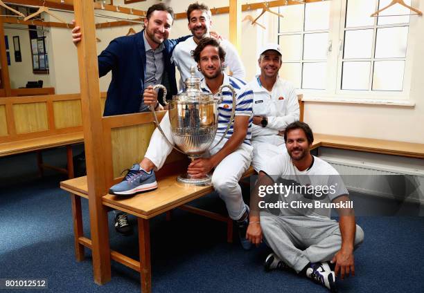
<svg viewBox="0 0 424 293">
<path fill-rule="evenodd" d="M 10 86 L 11 88 L 25 87 L 27 82 L 43 81 L 43 87 L 51 86 L 51 74 L 34 74 L 33 73 L 33 57 L 31 55 L 30 37 L 28 30 L 14 30 L 11 28 L 28 28 L 28 26 L 21 26 L 15 24 L 5 23 L 7 27 L 4 29 L 4 34 L 8 36 L 9 54 L 10 54 Z M 13 37 L 19 36 L 19 43 L 21 47 L 22 62 L 15 62 L 15 47 L 13 45 Z M 50 38 L 46 37 L 47 53 L 48 42 Z M 48 55 L 50 57 L 50 55 Z"/>
</svg>

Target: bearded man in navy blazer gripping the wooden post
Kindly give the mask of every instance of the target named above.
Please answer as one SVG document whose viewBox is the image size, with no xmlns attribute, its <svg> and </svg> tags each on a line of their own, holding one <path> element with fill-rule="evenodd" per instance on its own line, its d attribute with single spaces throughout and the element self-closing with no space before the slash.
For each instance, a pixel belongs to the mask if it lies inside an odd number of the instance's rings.
<svg viewBox="0 0 424 293">
<path fill-rule="evenodd" d="M 177 94 L 175 65 L 171 56 L 175 46 L 187 37 L 168 40 L 173 25 L 173 9 L 164 3 L 148 8 L 144 30 L 134 35 L 118 37 L 98 56 L 98 73 L 103 77 L 112 70 L 112 81 L 107 90 L 103 116 L 150 111 L 163 107 L 157 102 L 155 84 L 164 84 L 167 99 Z M 75 21 L 73 21 L 75 24 Z M 73 43 L 78 44 L 80 27 L 72 30 Z M 163 95 L 163 91 L 159 91 Z M 115 229 L 121 234 L 132 234 L 127 214 L 115 213 Z"/>
</svg>

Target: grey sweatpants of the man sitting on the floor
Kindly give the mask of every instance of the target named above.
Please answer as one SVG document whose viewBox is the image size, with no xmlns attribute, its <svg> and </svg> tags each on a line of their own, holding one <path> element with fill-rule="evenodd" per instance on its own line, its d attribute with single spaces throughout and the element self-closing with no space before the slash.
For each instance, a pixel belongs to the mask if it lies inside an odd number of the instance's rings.
<svg viewBox="0 0 424 293">
<path fill-rule="evenodd" d="M 335 220 L 261 214 L 260 227 L 274 253 L 297 273 L 308 263 L 331 261 L 342 247 Z M 364 231 L 356 225 L 355 249 L 363 240 Z"/>
</svg>

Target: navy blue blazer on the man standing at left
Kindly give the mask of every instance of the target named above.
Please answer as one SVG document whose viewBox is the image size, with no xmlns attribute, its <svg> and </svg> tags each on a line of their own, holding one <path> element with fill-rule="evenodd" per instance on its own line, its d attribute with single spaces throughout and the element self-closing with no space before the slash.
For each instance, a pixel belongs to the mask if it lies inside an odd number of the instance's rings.
<svg viewBox="0 0 424 293">
<path fill-rule="evenodd" d="M 139 112 L 146 64 L 143 33 L 144 30 L 134 35 L 118 37 L 98 55 L 100 77 L 112 70 L 112 81 L 107 90 L 104 116 Z M 170 59 L 175 46 L 188 37 L 191 36 L 164 41 L 164 73 L 166 74 L 164 78 L 168 79 L 169 84 L 167 100 L 177 94 L 175 64 L 171 63 Z"/>
</svg>

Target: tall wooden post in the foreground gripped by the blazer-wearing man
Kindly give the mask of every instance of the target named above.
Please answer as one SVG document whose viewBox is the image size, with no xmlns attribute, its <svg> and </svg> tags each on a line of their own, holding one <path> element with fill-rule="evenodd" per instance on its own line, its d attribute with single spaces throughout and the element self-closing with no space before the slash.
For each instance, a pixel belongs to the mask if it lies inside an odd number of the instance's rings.
<svg viewBox="0 0 424 293">
<path fill-rule="evenodd" d="M 93 1 L 87 0 L 73 1 L 76 23 L 82 32 L 77 48 L 94 282 L 103 284 L 110 280 L 110 249 L 107 209 L 102 205 L 102 196 L 107 193 L 107 189 L 93 4 Z"/>
</svg>

